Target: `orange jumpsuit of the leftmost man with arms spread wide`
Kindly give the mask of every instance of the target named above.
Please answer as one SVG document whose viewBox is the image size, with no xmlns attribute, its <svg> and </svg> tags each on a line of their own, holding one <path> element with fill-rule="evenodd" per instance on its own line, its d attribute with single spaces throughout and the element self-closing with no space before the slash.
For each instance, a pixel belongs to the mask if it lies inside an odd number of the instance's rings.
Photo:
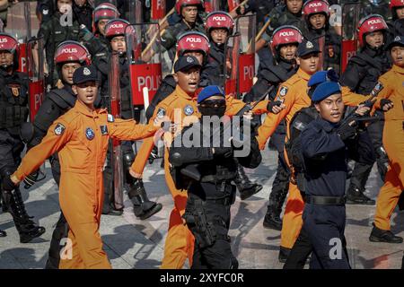
<svg viewBox="0 0 404 287">
<path fill-rule="evenodd" d="M 59 202 L 69 225 L 67 246 L 71 247 L 59 268 L 110 268 L 99 233 L 104 196 L 102 169 L 108 141 L 110 136 L 137 140 L 154 135 L 156 130 L 151 125 L 136 125 L 133 120 L 113 119 L 106 109 L 90 111 L 77 100 L 75 107 L 57 118 L 42 142 L 22 159 L 13 174 L 19 180 L 58 152 Z"/>
</svg>

